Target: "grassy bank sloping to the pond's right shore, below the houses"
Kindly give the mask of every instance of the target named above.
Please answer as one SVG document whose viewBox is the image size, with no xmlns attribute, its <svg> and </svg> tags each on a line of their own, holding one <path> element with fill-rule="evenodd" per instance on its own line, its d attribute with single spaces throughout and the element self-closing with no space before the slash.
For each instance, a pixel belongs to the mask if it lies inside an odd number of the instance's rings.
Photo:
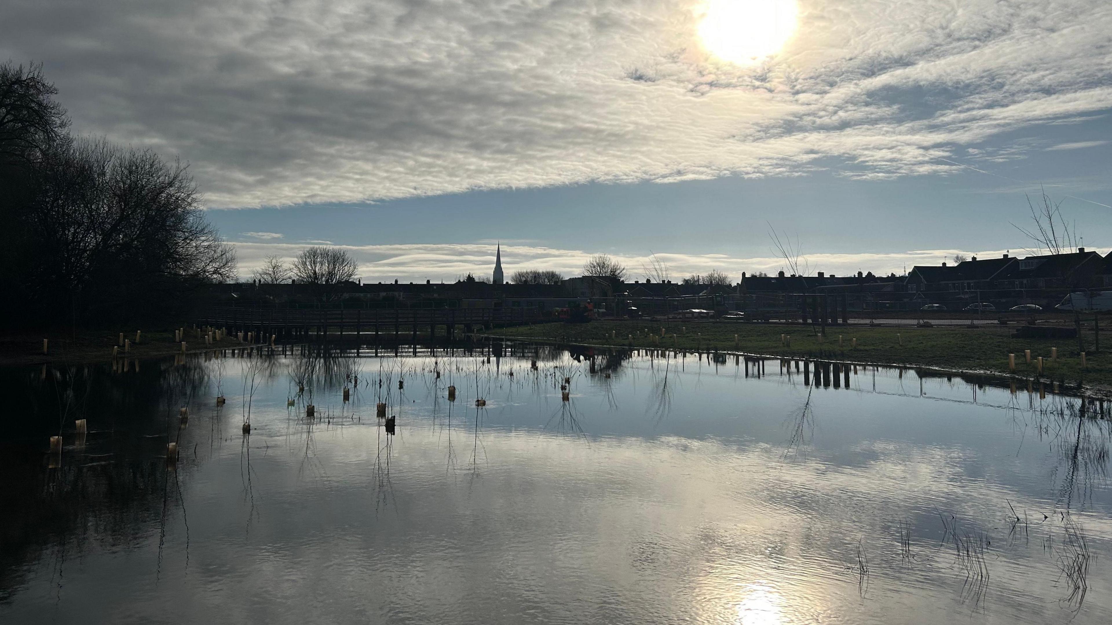
<svg viewBox="0 0 1112 625">
<path fill-rule="evenodd" d="M 661 328 L 665 337 L 661 338 Z M 1036 359 L 1043 357 L 1043 378 L 1083 381 L 1089 386 L 1112 387 L 1112 333 L 1101 338 L 1108 344 L 1102 354 L 1086 353 L 1082 369 L 1078 339 L 1013 339 L 1015 326 L 893 328 L 868 326 L 828 327 L 826 337 L 810 326 L 737 324 L 728 321 L 686 321 L 663 325 L 659 321 L 594 321 L 590 324 L 543 324 L 492 330 L 490 335 L 528 340 L 552 340 L 588 345 L 642 348 L 668 348 L 688 351 L 742 351 L 782 357 L 811 357 L 854 363 L 909 365 L 953 370 L 992 371 L 1035 377 Z M 612 333 L 616 338 L 612 338 Z M 633 340 L 629 340 L 633 335 Z M 673 336 L 675 335 L 675 336 Z M 734 336 L 737 335 L 737 343 Z M 782 344 L 781 335 L 791 343 Z M 842 337 L 841 345 L 838 336 Z M 856 339 L 856 346 L 853 345 Z M 1093 337 L 1083 333 L 1086 348 Z M 1058 359 L 1051 361 L 1051 348 Z M 1032 363 L 1024 358 L 1030 349 Z M 1015 354 L 1015 370 L 1010 371 L 1007 355 Z"/>
</svg>

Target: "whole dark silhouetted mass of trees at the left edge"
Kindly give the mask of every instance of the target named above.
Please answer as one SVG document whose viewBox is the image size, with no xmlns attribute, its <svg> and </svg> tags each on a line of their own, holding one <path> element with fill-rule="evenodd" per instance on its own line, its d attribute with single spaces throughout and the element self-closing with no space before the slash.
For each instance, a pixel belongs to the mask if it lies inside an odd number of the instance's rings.
<svg viewBox="0 0 1112 625">
<path fill-rule="evenodd" d="M 77 137 L 41 65 L 0 63 L 0 287 L 16 321 L 102 324 L 180 314 L 234 280 L 188 166 Z"/>
</svg>

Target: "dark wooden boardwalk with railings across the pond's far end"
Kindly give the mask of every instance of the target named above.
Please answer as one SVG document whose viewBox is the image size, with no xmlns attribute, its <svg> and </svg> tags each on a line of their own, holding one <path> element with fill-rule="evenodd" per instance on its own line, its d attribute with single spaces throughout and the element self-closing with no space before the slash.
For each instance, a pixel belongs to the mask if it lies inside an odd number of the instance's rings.
<svg viewBox="0 0 1112 625">
<path fill-rule="evenodd" d="M 216 306 L 203 310 L 199 327 L 224 328 L 230 336 L 255 333 L 275 340 L 416 341 L 456 338 L 457 329 L 555 320 L 534 308 L 284 308 Z"/>
</svg>

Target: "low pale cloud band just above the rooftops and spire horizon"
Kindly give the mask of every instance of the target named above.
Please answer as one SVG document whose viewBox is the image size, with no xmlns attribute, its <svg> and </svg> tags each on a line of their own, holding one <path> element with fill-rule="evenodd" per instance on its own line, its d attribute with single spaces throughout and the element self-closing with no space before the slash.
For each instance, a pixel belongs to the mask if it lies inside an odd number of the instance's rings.
<svg viewBox="0 0 1112 625">
<path fill-rule="evenodd" d="M 287 242 L 237 242 L 240 275 L 247 276 L 261 266 L 268 256 L 292 260 L 305 246 Z M 359 276 L 365 282 L 454 281 L 457 277 L 473 272 L 487 276 L 494 270 L 495 246 L 493 244 L 399 244 L 371 246 L 339 246 L 346 249 L 359 264 Z M 1106 250 L 1105 250 L 1106 251 Z M 941 265 L 952 260 L 954 255 L 991 258 L 1007 254 L 1007 250 L 970 251 L 957 249 L 931 249 L 895 251 L 888 254 L 808 254 L 806 259 L 812 272 L 848 276 L 857 271 L 873 271 L 875 275 L 904 272 L 915 265 Z M 502 264 L 507 276 L 519 269 L 552 269 L 565 277 L 583 274 L 583 265 L 595 251 L 557 249 L 540 246 L 502 246 Z M 647 256 L 612 255 L 629 270 L 629 280 L 645 279 L 644 267 L 649 265 Z M 712 269 L 724 271 L 735 281 L 742 271 L 775 274 L 787 270 L 783 259 L 766 257 L 735 257 L 726 254 L 667 254 L 656 257 L 665 262 L 672 279 L 679 280 L 691 274 L 705 274 Z"/>
</svg>

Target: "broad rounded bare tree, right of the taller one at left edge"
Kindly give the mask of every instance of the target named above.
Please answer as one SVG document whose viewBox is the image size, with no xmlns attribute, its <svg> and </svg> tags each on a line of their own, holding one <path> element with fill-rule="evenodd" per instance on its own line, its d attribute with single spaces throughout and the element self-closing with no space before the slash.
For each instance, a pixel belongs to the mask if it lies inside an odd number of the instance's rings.
<svg viewBox="0 0 1112 625">
<path fill-rule="evenodd" d="M 236 275 L 235 250 L 205 218 L 180 162 L 103 140 L 63 141 L 43 155 L 23 224 L 41 301 L 70 308 L 158 305 Z M 80 295 L 80 297 L 78 297 Z"/>
</svg>

